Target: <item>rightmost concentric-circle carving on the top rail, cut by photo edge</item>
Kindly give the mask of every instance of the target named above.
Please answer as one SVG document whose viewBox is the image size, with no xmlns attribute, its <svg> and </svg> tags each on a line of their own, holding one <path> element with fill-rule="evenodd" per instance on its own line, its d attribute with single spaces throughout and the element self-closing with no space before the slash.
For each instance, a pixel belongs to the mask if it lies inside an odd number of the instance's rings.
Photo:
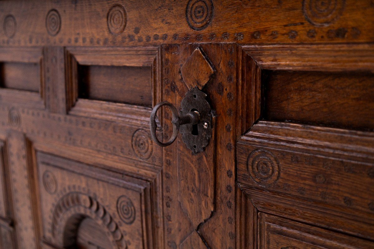
<svg viewBox="0 0 374 249">
<path fill-rule="evenodd" d="M 328 26 L 343 13 L 345 0 L 304 0 L 305 18 L 315 26 Z"/>
</svg>

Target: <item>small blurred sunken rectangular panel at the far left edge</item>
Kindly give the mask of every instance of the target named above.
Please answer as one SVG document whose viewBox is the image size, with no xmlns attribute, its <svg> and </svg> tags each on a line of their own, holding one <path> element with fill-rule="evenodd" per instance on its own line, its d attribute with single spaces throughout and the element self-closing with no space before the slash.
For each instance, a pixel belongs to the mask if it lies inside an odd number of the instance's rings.
<svg viewBox="0 0 374 249">
<path fill-rule="evenodd" d="M 1 63 L 0 87 L 39 92 L 39 63 L 4 62 Z"/>
</svg>

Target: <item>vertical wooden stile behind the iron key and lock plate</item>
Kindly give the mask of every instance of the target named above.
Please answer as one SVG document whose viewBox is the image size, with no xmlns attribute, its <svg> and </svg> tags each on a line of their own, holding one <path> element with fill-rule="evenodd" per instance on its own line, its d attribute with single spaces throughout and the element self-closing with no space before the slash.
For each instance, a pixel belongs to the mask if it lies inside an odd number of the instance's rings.
<svg viewBox="0 0 374 249">
<path fill-rule="evenodd" d="M 181 136 L 164 149 L 165 244 L 182 249 L 235 248 L 235 174 L 234 160 L 230 158 L 234 156 L 234 143 L 240 133 L 235 110 L 240 99 L 237 60 L 241 59 L 241 51 L 236 44 L 165 45 L 163 100 L 180 107 L 189 83 L 181 78 L 180 69 L 198 47 L 215 69 L 212 79 L 203 88 L 215 110 L 214 130 L 208 146 L 196 155 L 192 155 Z M 190 71 L 201 72 L 199 80 L 211 74 L 209 67 L 199 67 L 198 63 L 186 65 Z M 199 83 L 203 84 L 205 82 Z M 171 134 L 172 116 L 166 111 L 160 116 L 164 119 L 166 141 Z"/>
</svg>

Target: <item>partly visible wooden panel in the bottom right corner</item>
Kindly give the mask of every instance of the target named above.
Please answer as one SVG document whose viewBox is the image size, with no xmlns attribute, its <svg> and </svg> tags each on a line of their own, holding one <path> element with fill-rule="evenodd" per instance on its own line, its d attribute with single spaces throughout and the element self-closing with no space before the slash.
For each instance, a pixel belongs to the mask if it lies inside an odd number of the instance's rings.
<svg viewBox="0 0 374 249">
<path fill-rule="evenodd" d="M 374 246 L 366 240 L 265 213 L 258 216 L 258 236 L 260 249 L 347 249 Z"/>
</svg>

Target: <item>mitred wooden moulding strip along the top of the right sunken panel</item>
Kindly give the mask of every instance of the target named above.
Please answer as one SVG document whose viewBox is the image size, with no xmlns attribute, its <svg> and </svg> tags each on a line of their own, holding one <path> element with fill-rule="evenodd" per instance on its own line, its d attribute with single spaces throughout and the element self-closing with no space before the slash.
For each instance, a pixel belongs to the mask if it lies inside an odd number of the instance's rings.
<svg viewBox="0 0 374 249">
<path fill-rule="evenodd" d="M 262 69 L 374 72 L 374 43 L 242 45 Z"/>
</svg>

